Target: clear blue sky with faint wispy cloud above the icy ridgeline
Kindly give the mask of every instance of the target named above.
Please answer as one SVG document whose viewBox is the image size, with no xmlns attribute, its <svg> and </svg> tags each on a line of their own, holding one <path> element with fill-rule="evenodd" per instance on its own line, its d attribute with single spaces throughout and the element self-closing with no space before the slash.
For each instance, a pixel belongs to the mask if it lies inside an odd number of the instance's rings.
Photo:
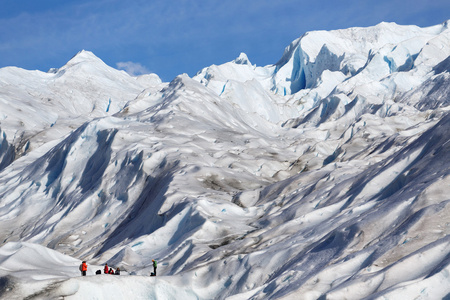
<svg viewBox="0 0 450 300">
<path fill-rule="evenodd" d="M 0 67 L 47 71 L 84 49 L 170 81 L 240 52 L 274 64 L 307 31 L 448 19 L 448 0 L 0 0 Z"/>
</svg>

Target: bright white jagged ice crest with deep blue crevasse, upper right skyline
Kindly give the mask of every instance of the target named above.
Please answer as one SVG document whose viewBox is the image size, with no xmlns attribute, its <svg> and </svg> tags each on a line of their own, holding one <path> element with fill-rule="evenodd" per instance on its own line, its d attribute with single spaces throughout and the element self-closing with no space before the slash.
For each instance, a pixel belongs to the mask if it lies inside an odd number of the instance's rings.
<svg viewBox="0 0 450 300">
<path fill-rule="evenodd" d="M 308 32 L 287 47 L 276 64 L 273 89 L 278 94 L 294 94 L 314 88 L 325 70 L 354 76 L 386 47 L 389 52 L 382 58 L 386 71 L 379 70 L 383 72 L 381 75 L 387 76 L 397 68 L 405 71 L 412 67 L 425 44 L 438 36 L 447 39 L 445 31 L 448 31 L 446 23 L 429 28 L 381 23 L 369 28 Z M 377 63 L 376 67 L 380 69 L 383 64 Z M 372 70 L 371 74 L 376 75 L 376 71 Z"/>
</svg>

